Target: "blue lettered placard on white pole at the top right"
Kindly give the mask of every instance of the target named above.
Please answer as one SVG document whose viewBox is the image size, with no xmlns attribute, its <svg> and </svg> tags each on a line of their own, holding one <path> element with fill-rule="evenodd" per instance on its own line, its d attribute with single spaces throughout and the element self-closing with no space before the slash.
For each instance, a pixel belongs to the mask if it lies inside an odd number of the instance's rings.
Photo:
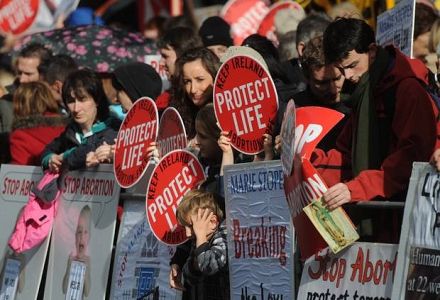
<svg viewBox="0 0 440 300">
<path fill-rule="evenodd" d="M 381 46 L 394 45 L 412 57 L 416 1 L 401 0 L 377 16 L 376 41 Z"/>
</svg>

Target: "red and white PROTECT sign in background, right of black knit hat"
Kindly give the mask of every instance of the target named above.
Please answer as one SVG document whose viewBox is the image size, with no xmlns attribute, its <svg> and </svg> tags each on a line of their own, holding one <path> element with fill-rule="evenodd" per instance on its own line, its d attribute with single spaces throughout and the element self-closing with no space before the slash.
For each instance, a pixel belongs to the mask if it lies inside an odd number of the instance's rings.
<svg viewBox="0 0 440 300">
<path fill-rule="evenodd" d="M 235 45 L 241 45 L 249 35 L 257 32 L 269 7 L 262 0 L 230 0 L 223 7 L 220 16 L 231 25 Z"/>
</svg>

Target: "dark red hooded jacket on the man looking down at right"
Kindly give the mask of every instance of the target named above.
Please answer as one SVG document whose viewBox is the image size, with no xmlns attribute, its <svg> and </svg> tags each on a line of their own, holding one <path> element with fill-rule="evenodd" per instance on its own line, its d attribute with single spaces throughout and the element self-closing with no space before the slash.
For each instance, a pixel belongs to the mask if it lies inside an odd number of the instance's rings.
<svg viewBox="0 0 440 300">
<path fill-rule="evenodd" d="M 328 186 L 345 182 L 352 201 L 390 198 L 405 192 L 413 162 L 428 161 L 437 142 L 438 111 L 421 83 L 427 84 L 428 69 L 394 47 L 386 50 L 393 59 L 373 93 L 378 121 L 389 123 L 388 128 L 381 128 L 387 131 L 389 144 L 380 145 L 387 147 L 380 169 L 363 170 L 352 178 L 352 132 L 358 121 L 355 112 L 338 137 L 336 149 L 327 153 L 317 149 L 311 159 Z M 392 116 L 386 109 L 389 106 L 394 107 Z"/>
</svg>

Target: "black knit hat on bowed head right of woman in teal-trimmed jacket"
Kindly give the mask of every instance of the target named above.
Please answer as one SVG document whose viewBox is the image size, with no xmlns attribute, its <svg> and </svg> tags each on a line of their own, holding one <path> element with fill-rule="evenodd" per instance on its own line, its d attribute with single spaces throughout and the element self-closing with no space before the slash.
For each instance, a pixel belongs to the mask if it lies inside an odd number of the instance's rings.
<svg viewBox="0 0 440 300">
<path fill-rule="evenodd" d="M 124 90 L 134 102 L 140 97 L 155 100 L 162 92 L 162 80 L 150 65 L 134 62 L 117 67 L 113 72 L 112 84 L 117 90 Z"/>
</svg>

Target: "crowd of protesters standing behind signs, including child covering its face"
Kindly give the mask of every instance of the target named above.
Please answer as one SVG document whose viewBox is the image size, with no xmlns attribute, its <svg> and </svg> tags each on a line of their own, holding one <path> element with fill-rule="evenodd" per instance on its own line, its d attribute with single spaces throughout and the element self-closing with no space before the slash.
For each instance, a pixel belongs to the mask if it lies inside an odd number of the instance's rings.
<svg viewBox="0 0 440 300">
<path fill-rule="evenodd" d="M 279 99 L 277 124 L 264 136 L 264 151 L 252 157 L 231 147 L 215 119 L 213 84 L 222 56 L 233 46 L 222 18 L 209 17 L 199 29 L 184 18 L 150 24 L 148 36 L 156 39 L 171 83 L 166 90 L 149 65 L 133 62 L 103 76 L 44 45 L 29 44 L 17 55 L 16 78 L 0 99 L 1 163 L 41 165 L 51 172 L 112 163 L 121 121 L 138 98 L 154 99 L 159 114 L 176 108 L 207 180 L 177 209 L 179 222 L 195 238 L 177 248 L 170 285 L 185 289 L 185 299 L 227 299 L 228 293 L 219 292 L 225 289 L 208 284 L 229 285 L 223 167 L 280 158 L 280 125 L 290 99 L 297 107 L 322 106 L 344 115 L 311 158 L 329 186 L 324 194 L 329 209 L 373 199 L 404 201 L 414 161 L 440 166 L 439 109 L 428 92 L 437 84 L 437 10 L 427 1 L 416 5 L 414 59 L 377 45 L 359 13 L 343 10 L 337 16 L 280 11 L 279 44 L 258 34 L 244 39 L 242 46 L 263 57 Z M 111 109 L 115 105 L 119 110 Z M 152 156 L 155 147 L 148 149 Z M 376 241 L 398 242 L 399 216 L 373 219 Z"/>
</svg>

